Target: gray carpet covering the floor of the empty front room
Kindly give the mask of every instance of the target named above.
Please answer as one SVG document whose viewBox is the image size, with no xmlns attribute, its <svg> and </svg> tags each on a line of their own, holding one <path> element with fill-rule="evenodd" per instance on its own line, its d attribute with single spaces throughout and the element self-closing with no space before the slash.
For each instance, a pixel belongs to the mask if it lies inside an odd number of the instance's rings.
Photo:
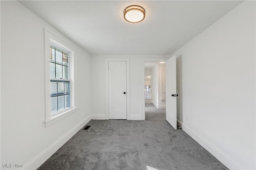
<svg viewBox="0 0 256 170">
<path fill-rule="evenodd" d="M 226 170 L 167 121 L 91 120 L 38 170 Z"/>
</svg>

